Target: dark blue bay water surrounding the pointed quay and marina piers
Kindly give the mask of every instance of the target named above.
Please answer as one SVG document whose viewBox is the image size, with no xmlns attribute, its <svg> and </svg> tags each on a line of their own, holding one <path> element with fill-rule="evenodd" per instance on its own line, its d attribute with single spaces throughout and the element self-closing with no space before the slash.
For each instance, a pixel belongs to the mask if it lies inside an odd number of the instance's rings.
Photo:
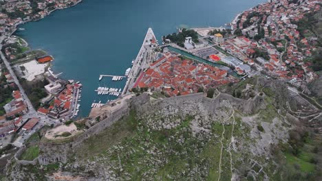
<svg viewBox="0 0 322 181">
<path fill-rule="evenodd" d="M 86 117 L 90 105 L 113 97 L 96 95 L 100 86 L 122 88 L 123 82 L 100 74 L 124 75 L 136 58 L 148 27 L 158 39 L 176 27 L 219 27 L 236 14 L 264 0 L 84 0 L 53 12 L 45 19 L 21 25 L 16 34 L 33 49 L 54 56 L 52 69 L 61 77 L 81 81 L 80 115 Z"/>
</svg>

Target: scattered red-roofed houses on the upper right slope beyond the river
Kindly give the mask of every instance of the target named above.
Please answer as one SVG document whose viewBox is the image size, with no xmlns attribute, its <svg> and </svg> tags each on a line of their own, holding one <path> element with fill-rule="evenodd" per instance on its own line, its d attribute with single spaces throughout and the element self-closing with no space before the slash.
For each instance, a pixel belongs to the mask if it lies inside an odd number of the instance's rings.
<svg viewBox="0 0 322 181">
<path fill-rule="evenodd" d="M 314 14 L 319 11 L 321 3 L 314 0 L 262 3 L 244 11 L 233 22 L 233 29 L 239 29 L 244 36 L 225 40 L 221 46 L 248 63 L 255 54 L 263 56 L 258 50 L 265 51 L 267 56 L 257 61 L 259 66 L 270 75 L 303 86 L 317 77 L 310 69 L 310 61 L 305 60 L 312 58 L 312 51 L 321 46 L 319 37 L 301 25 L 308 21 L 305 19 L 314 19 Z"/>
</svg>

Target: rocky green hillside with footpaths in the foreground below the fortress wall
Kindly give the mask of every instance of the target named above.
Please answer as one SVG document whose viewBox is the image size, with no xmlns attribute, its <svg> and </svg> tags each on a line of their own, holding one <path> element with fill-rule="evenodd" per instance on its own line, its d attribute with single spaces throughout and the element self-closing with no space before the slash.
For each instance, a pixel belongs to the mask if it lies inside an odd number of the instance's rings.
<svg viewBox="0 0 322 181">
<path fill-rule="evenodd" d="M 43 165 L 12 160 L 8 180 L 319 177 L 321 126 L 311 124 L 321 122 L 314 119 L 319 110 L 281 82 L 255 78 L 222 87 L 212 99 L 203 93 L 143 94 L 128 101 L 127 108 L 111 126 L 100 121 L 107 126 L 103 131 L 85 131 L 84 141 L 41 143 Z"/>
</svg>

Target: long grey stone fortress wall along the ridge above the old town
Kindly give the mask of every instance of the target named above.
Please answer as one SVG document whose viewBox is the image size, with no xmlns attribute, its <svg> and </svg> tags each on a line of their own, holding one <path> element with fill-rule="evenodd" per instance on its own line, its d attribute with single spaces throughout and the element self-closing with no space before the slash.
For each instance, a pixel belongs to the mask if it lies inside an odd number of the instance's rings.
<svg viewBox="0 0 322 181">
<path fill-rule="evenodd" d="M 182 114 L 182 117 L 184 117 L 184 114 L 197 114 L 197 112 L 200 113 L 200 111 L 202 111 L 204 117 L 208 117 L 208 115 L 212 117 L 212 114 L 216 113 L 216 110 L 219 106 L 222 106 L 223 102 L 229 102 L 230 106 L 243 112 L 253 112 L 255 108 L 263 106 L 259 105 L 261 103 L 261 101 L 259 101 L 260 99 L 262 98 L 255 97 L 249 100 L 237 99 L 224 93 L 219 93 L 217 97 L 210 99 L 204 97 L 203 93 L 196 93 L 150 101 L 149 95 L 144 93 L 138 97 L 133 97 L 133 99 L 128 101 L 128 104 L 125 104 L 118 110 L 108 114 L 107 118 L 96 123 L 96 125 L 93 125 L 80 136 L 77 136 L 74 141 L 69 143 L 41 143 L 41 154 L 39 155 L 38 160 L 41 165 L 47 165 L 54 162 L 67 162 L 68 155 L 72 153 L 74 149 L 78 149 L 78 146 L 82 144 L 85 139 L 105 130 L 105 128 L 108 128 L 116 121 L 122 119 L 122 117 L 126 117 L 131 108 L 135 108 L 138 115 L 150 114 L 155 111 L 164 111 L 164 108 L 171 108 L 175 113 Z"/>
</svg>

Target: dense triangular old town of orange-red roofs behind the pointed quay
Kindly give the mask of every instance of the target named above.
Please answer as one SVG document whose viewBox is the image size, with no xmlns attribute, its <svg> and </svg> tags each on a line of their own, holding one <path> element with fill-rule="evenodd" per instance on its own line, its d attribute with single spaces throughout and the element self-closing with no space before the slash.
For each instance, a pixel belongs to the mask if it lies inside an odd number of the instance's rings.
<svg viewBox="0 0 322 181">
<path fill-rule="evenodd" d="M 192 60 L 181 60 L 167 53 L 142 72 L 134 87 L 148 87 L 169 96 L 197 93 L 199 88 L 208 88 L 237 82 L 227 71 Z"/>
</svg>

